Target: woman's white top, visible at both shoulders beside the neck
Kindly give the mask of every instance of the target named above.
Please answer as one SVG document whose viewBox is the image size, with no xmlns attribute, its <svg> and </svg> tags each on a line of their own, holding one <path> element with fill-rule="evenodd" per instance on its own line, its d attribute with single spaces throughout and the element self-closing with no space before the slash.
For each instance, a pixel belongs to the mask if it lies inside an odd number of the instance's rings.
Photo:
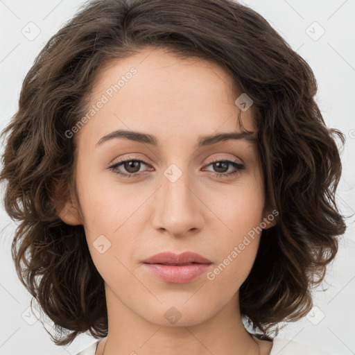
<svg viewBox="0 0 355 355">
<path fill-rule="evenodd" d="M 76 355 L 95 355 L 98 343 L 100 340 L 97 340 L 94 344 L 87 347 L 82 352 L 79 352 Z M 298 343 L 294 340 L 289 340 L 285 338 L 279 338 L 275 336 L 272 338 L 272 349 L 270 355 L 331 355 L 328 352 L 321 352 L 314 347 L 311 347 L 306 344 Z"/>
</svg>

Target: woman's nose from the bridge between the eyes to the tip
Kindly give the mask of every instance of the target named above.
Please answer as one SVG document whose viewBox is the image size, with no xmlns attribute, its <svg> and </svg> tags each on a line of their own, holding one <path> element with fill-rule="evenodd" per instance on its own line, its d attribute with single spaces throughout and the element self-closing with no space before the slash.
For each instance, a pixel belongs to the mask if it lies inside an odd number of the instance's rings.
<svg viewBox="0 0 355 355">
<path fill-rule="evenodd" d="M 173 235 L 200 228 L 202 216 L 198 210 L 198 198 L 191 188 L 187 164 L 184 164 L 184 171 L 178 164 L 171 164 L 166 168 L 154 211 L 154 227 L 164 228 Z"/>
</svg>

